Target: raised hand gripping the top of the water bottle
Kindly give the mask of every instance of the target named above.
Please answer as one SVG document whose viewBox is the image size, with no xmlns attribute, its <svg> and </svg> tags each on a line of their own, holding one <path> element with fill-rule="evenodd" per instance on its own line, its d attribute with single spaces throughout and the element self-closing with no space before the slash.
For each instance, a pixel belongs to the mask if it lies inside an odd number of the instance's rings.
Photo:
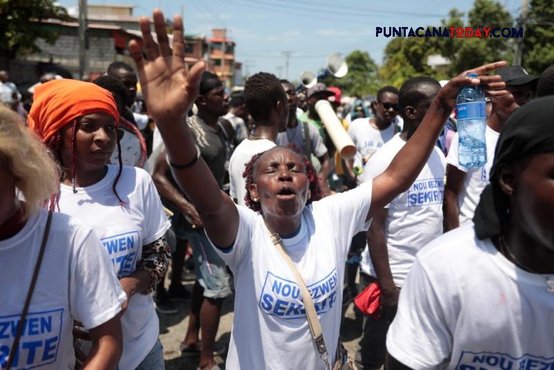
<svg viewBox="0 0 554 370">
<path fill-rule="evenodd" d="M 458 76 L 452 78 L 445 87 L 440 89 L 437 97 L 440 99 L 441 103 L 446 104 L 449 109 L 454 109 L 460 89 L 467 85 L 481 85 L 485 94 L 492 97 L 509 94 L 507 90 L 503 90 L 503 88 L 506 87 L 506 83 L 502 82 L 501 76 L 483 76 L 485 73 L 494 71 L 494 69 L 506 67 L 506 64 L 506 62 L 494 62 L 463 71 Z M 467 73 L 476 73 L 477 78 L 465 76 Z"/>
</svg>

